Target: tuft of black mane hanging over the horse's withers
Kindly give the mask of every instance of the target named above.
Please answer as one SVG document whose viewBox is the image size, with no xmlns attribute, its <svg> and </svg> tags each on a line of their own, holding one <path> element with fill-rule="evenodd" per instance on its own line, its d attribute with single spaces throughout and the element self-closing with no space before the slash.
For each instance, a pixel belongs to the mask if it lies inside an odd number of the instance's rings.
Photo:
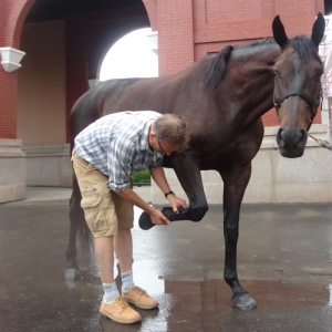
<svg viewBox="0 0 332 332">
<path fill-rule="evenodd" d="M 228 45 L 222 49 L 211 62 L 209 70 L 206 73 L 206 85 L 216 90 L 222 80 L 228 60 L 234 46 Z"/>
</svg>

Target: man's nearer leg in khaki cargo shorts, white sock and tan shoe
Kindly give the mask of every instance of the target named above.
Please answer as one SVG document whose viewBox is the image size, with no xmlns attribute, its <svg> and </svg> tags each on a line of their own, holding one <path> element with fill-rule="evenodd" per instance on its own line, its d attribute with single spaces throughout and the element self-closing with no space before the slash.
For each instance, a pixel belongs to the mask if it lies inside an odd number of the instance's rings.
<svg viewBox="0 0 332 332">
<path fill-rule="evenodd" d="M 117 232 L 117 217 L 108 188 L 108 178 L 75 153 L 72 162 L 82 194 L 81 206 L 86 224 L 95 238 L 94 248 L 103 279 L 104 298 L 100 313 L 118 323 L 138 322 L 142 320 L 141 314 L 120 295 L 114 281 L 113 241 Z"/>
</svg>

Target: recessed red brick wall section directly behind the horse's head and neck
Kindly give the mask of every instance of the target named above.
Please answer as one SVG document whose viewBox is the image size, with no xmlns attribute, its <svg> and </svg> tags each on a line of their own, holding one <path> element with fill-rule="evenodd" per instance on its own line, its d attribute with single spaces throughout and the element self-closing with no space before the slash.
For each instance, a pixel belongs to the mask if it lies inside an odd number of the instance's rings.
<svg viewBox="0 0 332 332">
<path fill-rule="evenodd" d="M 194 0 L 195 61 L 227 44 L 242 44 L 272 37 L 272 20 L 280 14 L 289 37 L 311 34 L 314 17 L 324 12 L 323 1 L 303 0 Z M 266 126 L 276 126 L 274 110 L 262 117 Z M 321 123 L 318 112 L 314 123 Z"/>
</svg>

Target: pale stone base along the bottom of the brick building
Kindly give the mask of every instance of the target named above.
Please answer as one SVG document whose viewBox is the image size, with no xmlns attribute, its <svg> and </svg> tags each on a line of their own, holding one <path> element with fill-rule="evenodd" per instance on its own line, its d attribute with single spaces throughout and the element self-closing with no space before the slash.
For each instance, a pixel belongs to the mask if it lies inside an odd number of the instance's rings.
<svg viewBox="0 0 332 332">
<path fill-rule="evenodd" d="M 308 139 L 301 158 L 280 156 L 276 144 L 279 127 L 266 127 L 260 151 L 252 160 L 252 175 L 245 194 L 246 204 L 331 203 L 332 152 Z M 312 125 L 310 133 L 326 138 L 326 125 Z M 186 195 L 172 169 L 165 169 L 168 183 L 179 197 Z M 224 185 L 218 173 L 201 172 L 209 204 L 222 204 Z M 69 144 L 40 144 L 22 147 L 20 139 L 0 138 L 0 203 L 24 199 L 25 186 L 72 186 Z M 155 205 L 167 205 L 155 183 Z"/>
</svg>

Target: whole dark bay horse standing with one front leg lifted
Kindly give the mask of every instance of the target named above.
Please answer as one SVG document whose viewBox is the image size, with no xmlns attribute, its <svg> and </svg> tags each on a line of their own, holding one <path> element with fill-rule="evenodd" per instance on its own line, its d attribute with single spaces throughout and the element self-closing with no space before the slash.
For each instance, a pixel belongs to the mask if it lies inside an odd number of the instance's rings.
<svg viewBox="0 0 332 332">
<path fill-rule="evenodd" d="M 261 116 L 274 106 L 280 121 L 277 142 L 281 155 L 302 156 L 307 132 L 321 100 L 323 65 L 318 48 L 324 29 L 324 18 L 319 13 L 311 38 L 288 39 L 278 15 L 272 23 L 273 39 L 227 46 L 175 75 L 104 82 L 80 97 L 71 113 L 72 143 L 84 127 L 113 112 L 153 110 L 176 113 L 187 122 L 189 149 L 165 156 L 164 166 L 174 168 L 189 207 L 179 215 L 173 214 L 170 208 L 165 214 L 172 221 L 201 220 L 208 204 L 200 169 L 215 169 L 220 174 L 226 242 L 224 277 L 232 290 L 232 302 L 239 308 L 256 305 L 238 280 L 237 241 L 251 160 L 263 137 Z M 86 230 L 80 201 L 74 179 L 66 250 L 69 279 L 80 278 L 76 231 Z"/>
</svg>

